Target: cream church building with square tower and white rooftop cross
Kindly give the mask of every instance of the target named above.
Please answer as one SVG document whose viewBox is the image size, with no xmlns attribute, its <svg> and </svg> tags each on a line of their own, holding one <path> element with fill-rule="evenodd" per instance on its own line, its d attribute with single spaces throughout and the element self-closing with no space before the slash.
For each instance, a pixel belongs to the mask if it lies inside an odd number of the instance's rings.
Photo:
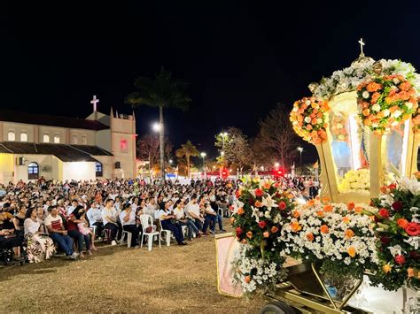
<svg viewBox="0 0 420 314">
<path fill-rule="evenodd" d="M 136 178 L 136 117 L 86 119 L 0 110 L 0 183 Z"/>
</svg>

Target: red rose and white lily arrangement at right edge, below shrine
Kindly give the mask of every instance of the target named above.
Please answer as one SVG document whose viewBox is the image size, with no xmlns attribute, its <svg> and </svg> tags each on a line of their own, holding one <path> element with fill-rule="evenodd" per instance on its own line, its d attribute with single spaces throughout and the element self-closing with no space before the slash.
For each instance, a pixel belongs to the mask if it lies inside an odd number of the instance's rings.
<svg viewBox="0 0 420 314">
<path fill-rule="evenodd" d="M 385 186 L 372 199 L 377 207 L 377 265 L 374 285 L 397 290 L 420 288 L 420 182 L 416 178 Z"/>
</svg>

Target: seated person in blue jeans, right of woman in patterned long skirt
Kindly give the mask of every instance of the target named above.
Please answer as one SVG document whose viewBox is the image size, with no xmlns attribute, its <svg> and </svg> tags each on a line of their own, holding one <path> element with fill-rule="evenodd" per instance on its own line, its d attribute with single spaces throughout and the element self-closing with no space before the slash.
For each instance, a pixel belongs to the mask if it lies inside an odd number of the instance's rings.
<svg viewBox="0 0 420 314">
<path fill-rule="evenodd" d="M 73 251 L 73 239 L 68 236 L 67 230 L 63 226 L 63 220 L 58 215 L 58 208 L 54 205 L 48 208 L 48 216 L 45 218 L 45 226 L 53 241 L 58 244 L 58 248 L 66 253 L 66 257 L 75 259 L 79 254 Z"/>
</svg>

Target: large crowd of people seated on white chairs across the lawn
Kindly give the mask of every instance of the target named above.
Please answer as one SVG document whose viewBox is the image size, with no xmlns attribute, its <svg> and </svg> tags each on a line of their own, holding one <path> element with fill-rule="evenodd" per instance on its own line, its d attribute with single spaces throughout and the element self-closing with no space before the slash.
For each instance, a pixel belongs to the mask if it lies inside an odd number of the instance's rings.
<svg viewBox="0 0 420 314">
<path fill-rule="evenodd" d="M 296 197 L 312 198 L 319 183 L 310 177 L 278 179 Z M 123 231 L 138 248 L 142 234 L 169 230 L 179 245 L 194 237 L 225 232 L 240 180 L 95 180 L 64 183 L 37 180 L 0 185 L 0 253 L 38 263 L 57 250 L 69 259 L 116 245 Z M 222 211 L 219 211 L 219 210 Z"/>
</svg>

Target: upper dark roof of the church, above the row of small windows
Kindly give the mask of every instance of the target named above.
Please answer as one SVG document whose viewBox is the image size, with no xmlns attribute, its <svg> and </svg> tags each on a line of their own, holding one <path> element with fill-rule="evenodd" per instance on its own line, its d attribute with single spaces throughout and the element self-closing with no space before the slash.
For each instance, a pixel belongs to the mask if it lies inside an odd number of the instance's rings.
<svg viewBox="0 0 420 314">
<path fill-rule="evenodd" d="M 20 111 L 11 111 L 7 109 L 0 110 L 0 121 L 26 123 L 39 126 L 60 126 L 68 128 L 81 128 L 85 130 L 105 130 L 109 126 L 88 119 L 78 119 L 63 116 L 51 116 L 48 114 L 28 113 Z"/>
</svg>

